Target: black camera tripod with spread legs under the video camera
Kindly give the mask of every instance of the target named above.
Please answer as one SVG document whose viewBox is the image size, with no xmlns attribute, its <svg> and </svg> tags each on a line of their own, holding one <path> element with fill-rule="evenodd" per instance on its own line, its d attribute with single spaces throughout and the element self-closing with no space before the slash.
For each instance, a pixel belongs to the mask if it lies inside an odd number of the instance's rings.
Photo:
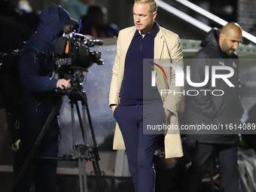
<svg viewBox="0 0 256 192">
<path fill-rule="evenodd" d="M 17 175 L 17 178 L 14 182 L 14 187 L 13 190 L 17 190 L 17 186 L 19 184 L 20 178 L 23 176 L 23 172 L 27 169 L 29 166 L 29 163 L 31 162 L 31 158 L 35 159 L 47 159 L 47 160 L 67 160 L 67 161 L 77 161 L 78 162 L 78 168 L 79 168 L 79 184 L 80 184 L 80 192 L 87 192 L 87 175 L 86 175 L 86 163 L 89 163 L 92 161 L 93 163 L 93 169 L 95 172 L 96 176 L 96 186 L 97 186 L 97 191 L 98 192 L 104 192 L 103 187 L 102 187 L 102 174 L 99 168 L 99 150 L 98 146 L 96 145 L 96 138 L 93 130 L 93 123 L 90 117 L 90 111 L 88 108 L 88 103 L 87 103 L 87 96 L 86 93 L 83 90 L 64 90 L 63 95 L 61 99 L 56 102 L 56 105 L 54 106 L 53 110 L 51 111 L 50 115 L 47 118 L 46 123 L 44 124 L 41 133 L 38 136 L 38 139 L 35 141 L 35 145 L 33 146 L 32 150 L 29 153 L 29 156 L 26 158 L 25 163 L 23 164 L 22 169 L 20 170 L 19 175 Z M 44 134 L 47 132 L 47 128 L 50 125 L 51 120 L 53 120 L 53 117 L 58 113 L 61 105 L 62 105 L 62 100 L 64 96 L 67 95 L 69 96 L 70 99 L 70 105 L 71 105 L 71 115 L 72 115 L 72 136 L 73 136 L 73 151 L 74 154 L 64 154 L 63 157 L 36 157 L 36 152 L 38 150 L 38 147 L 41 143 L 41 140 L 44 137 Z M 82 116 L 81 116 L 81 111 L 79 109 L 78 101 L 81 101 L 81 106 L 82 106 Z M 75 109 L 74 106 L 77 109 L 77 114 L 78 114 L 78 120 L 81 128 L 81 134 L 83 136 L 84 140 L 84 145 L 78 145 L 76 143 L 76 138 L 75 138 Z M 93 138 L 93 147 L 89 147 L 87 145 L 87 134 L 86 130 L 84 130 L 85 126 L 85 121 L 86 121 L 86 112 L 87 112 L 87 117 L 88 117 L 88 122 L 90 125 L 90 131 L 92 134 Z"/>
</svg>

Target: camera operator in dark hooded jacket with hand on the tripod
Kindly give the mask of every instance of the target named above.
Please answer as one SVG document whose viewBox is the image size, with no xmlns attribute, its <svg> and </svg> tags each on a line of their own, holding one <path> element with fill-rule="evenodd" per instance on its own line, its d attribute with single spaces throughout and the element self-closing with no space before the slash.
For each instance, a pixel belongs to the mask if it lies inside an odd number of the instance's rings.
<svg viewBox="0 0 256 192">
<path fill-rule="evenodd" d="M 57 79 L 53 50 L 56 38 L 62 35 L 69 13 L 59 5 L 50 5 L 40 15 L 38 30 L 26 42 L 20 56 L 20 90 L 23 108 L 18 111 L 17 131 L 21 140 L 20 149 L 14 152 L 14 178 L 20 172 L 53 106 L 59 99 L 56 88 L 68 89 L 70 80 Z M 59 123 L 57 114 L 50 122 L 37 151 L 39 157 L 57 157 Z M 19 192 L 28 192 L 32 184 L 35 191 L 52 191 L 56 181 L 57 160 L 35 160 L 25 169 L 18 182 Z M 20 177 L 19 177 L 20 178 Z M 15 189 L 14 189 L 15 190 Z M 15 190 L 16 191 L 16 190 Z"/>
</svg>

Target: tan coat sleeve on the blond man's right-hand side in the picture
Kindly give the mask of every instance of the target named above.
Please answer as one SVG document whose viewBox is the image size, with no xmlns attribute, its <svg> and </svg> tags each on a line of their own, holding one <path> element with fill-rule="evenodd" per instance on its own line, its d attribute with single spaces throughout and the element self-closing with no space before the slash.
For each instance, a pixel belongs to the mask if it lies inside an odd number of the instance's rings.
<svg viewBox="0 0 256 192">
<path fill-rule="evenodd" d="M 171 62 L 180 66 L 183 69 L 183 53 L 181 48 L 181 42 L 179 41 L 178 35 L 175 35 L 174 40 L 172 41 L 171 46 L 169 46 L 169 54 L 171 57 Z M 171 77 L 169 81 L 169 90 L 172 90 L 172 93 L 169 93 L 166 96 L 165 101 L 163 102 L 163 108 L 171 111 L 173 114 L 177 114 L 178 105 L 181 101 L 182 92 L 184 87 L 176 87 L 175 86 L 175 70 L 170 68 Z M 173 92 L 175 91 L 175 94 Z"/>
</svg>

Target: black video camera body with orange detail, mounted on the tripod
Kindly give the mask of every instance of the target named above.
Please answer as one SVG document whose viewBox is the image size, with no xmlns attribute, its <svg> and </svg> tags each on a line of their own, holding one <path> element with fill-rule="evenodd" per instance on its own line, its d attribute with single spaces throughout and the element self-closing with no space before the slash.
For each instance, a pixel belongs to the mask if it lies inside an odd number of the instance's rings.
<svg viewBox="0 0 256 192">
<path fill-rule="evenodd" d="M 60 67 L 59 78 L 70 79 L 72 88 L 82 89 L 84 72 L 96 63 L 104 64 L 100 50 L 90 50 L 89 47 L 102 45 L 98 39 L 87 39 L 86 35 L 71 32 L 56 40 L 54 50 L 55 64 Z"/>
</svg>

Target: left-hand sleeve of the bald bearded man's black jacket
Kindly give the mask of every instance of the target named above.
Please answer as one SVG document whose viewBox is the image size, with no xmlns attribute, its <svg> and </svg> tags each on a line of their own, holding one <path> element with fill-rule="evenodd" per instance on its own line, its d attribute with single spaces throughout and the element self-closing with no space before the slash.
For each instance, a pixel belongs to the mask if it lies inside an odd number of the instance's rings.
<svg viewBox="0 0 256 192">
<path fill-rule="evenodd" d="M 190 80 L 194 83 L 202 83 L 206 78 L 206 66 L 209 66 L 209 73 L 211 73 L 211 59 L 207 58 L 205 53 L 197 53 L 194 57 L 192 64 L 190 66 Z M 198 91 L 197 96 L 191 96 L 194 105 L 202 111 L 202 113 L 209 119 L 214 119 L 217 116 L 217 109 L 212 101 L 212 97 L 209 91 L 211 90 L 211 75 L 209 76 L 209 81 L 203 87 L 192 87 L 193 90 Z"/>
</svg>

